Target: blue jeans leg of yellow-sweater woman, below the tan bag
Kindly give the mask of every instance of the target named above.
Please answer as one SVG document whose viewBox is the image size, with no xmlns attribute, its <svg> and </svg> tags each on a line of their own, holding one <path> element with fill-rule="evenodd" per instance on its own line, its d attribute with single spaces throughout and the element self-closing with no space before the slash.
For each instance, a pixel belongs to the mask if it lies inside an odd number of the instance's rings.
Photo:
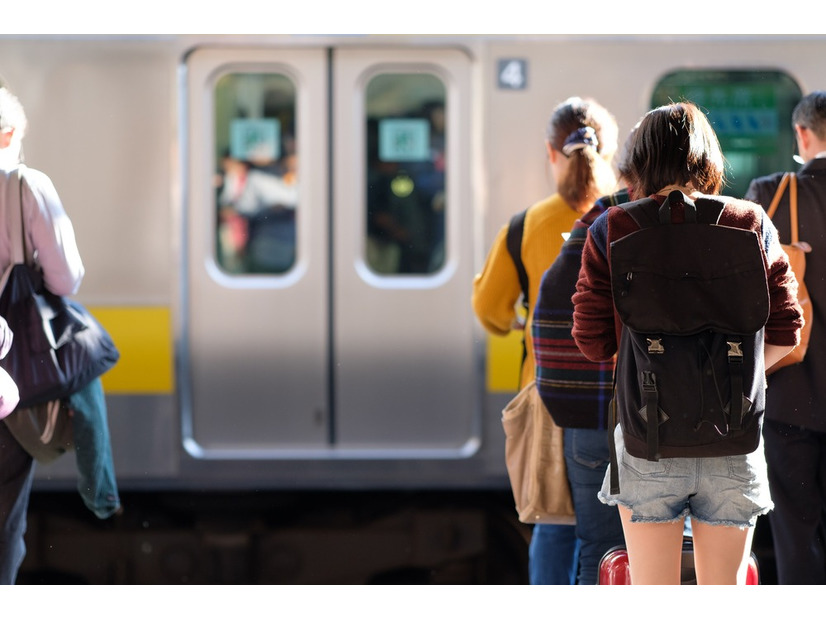
<svg viewBox="0 0 826 620">
<path fill-rule="evenodd" d="M 533 586 L 570 586 L 576 583 L 579 541 L 573 525 L 533 526 L 528 548 L 528 576 Z"/>
</svg>

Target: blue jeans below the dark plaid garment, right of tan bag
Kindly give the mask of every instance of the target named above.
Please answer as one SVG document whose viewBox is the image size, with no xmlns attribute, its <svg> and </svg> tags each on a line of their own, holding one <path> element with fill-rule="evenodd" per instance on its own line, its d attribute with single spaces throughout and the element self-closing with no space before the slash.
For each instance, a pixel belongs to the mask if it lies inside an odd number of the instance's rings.
<svg viewBox="0 0 826 620">
<path fill-rule="evenodd" d="M 565 467 L 576 511 L 579 541 L 579 585 L 595 585 L 602 556 L 625 544 L 622 522 L 615 506 L 606 506 L 597 497 L 610 462 L 608 431 L 586 428 L 565 429 Z"/>
</svg>

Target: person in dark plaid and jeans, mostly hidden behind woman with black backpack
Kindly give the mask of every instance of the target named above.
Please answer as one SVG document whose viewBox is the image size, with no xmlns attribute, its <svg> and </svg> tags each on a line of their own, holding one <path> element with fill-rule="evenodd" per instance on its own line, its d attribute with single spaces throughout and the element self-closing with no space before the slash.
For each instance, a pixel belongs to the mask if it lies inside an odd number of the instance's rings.
<svg viewBox="0 0 826 620">
<path fill-rule="evenodd" d="M 579 539 L 579 585 L 595 585 L 599 563 L 611 548 L 625 544 L 619 512 L 599 501 L 597 493 L 610 461 L 610 403 L 614 359 L 592 362 L 574 342 L 574 304 L 582 248 L 588 227 L 608 207 L 630 200 L 627 158 L 636 127 L 626 138 L 619 158 L 620 185 L 597 200 L 576 221 L 553 265 L 542 276 L 533 316 L 536 387 L 558 426 L 565 429 L 565 469 L 571 485 Z"/>
</svg>

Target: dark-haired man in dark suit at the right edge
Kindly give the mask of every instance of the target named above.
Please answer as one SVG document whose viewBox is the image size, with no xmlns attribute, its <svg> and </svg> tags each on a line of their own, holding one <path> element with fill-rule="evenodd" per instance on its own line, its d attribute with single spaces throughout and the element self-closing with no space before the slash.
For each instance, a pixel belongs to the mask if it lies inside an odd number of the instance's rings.
<svg viewBox="0 0 826 620">
<path fill-rule="evenodd" d="M 826 584 L 826 91 L 792 113 L 798 152 L 800 240 L 814 319 L 806 358 L 769 377 L 763 436 L 775 509 L 769 514 L 780 584 Z M 768 208 L 782 173 L 752 181 L 746 198 Z M 789 191 L 772 217 L 791 243 Z"/>
</svg>

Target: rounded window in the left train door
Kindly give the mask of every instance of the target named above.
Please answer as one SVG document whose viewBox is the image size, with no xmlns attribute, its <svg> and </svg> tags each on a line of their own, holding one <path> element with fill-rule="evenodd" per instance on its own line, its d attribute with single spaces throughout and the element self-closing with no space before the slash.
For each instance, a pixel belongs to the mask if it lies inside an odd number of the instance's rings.
<svg viewBox="0 0 826 620">
<path fill-rule="evenodd" d="M 281 274 L 295 262 L 296 89 L 279 74 L 215 85 L 215 258 L 230 274 Z"/>
</svg>

